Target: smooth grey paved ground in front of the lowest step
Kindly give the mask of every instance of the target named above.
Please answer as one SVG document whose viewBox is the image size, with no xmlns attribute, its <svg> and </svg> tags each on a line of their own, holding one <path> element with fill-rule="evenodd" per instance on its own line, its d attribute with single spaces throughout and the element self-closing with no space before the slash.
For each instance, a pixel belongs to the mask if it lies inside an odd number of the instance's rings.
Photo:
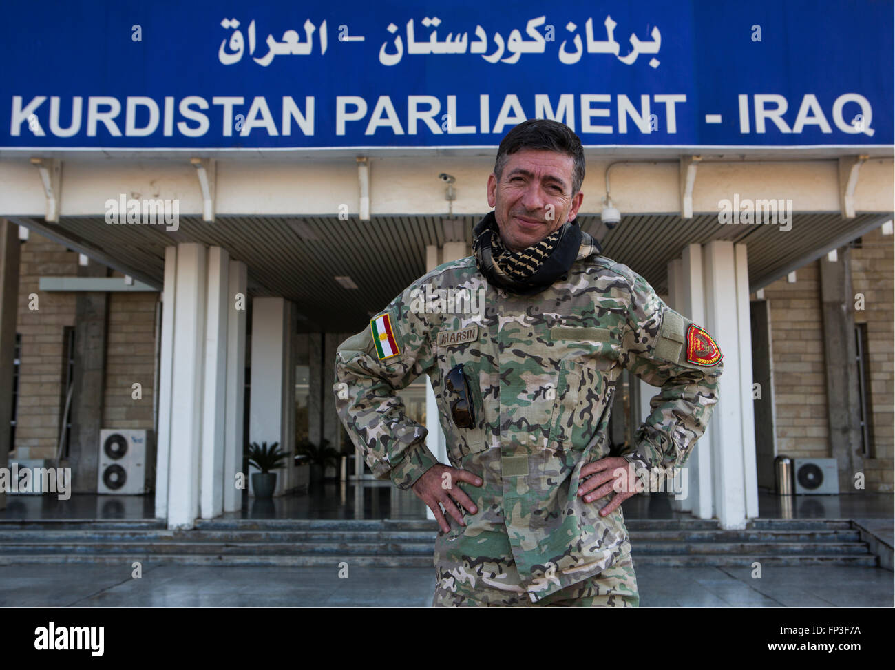
<svg viewBox="0 0 895 670">
<path fill-rule="evenodd" d="M 428 607 L 429 568 L 192 567 L 149 564 L 141 580 L 130 565 L 4 565 L 4 607 Z M 892 573 L 880 568 L 637 570 L 644 607 L 891 607 Z"/>
</svg>

